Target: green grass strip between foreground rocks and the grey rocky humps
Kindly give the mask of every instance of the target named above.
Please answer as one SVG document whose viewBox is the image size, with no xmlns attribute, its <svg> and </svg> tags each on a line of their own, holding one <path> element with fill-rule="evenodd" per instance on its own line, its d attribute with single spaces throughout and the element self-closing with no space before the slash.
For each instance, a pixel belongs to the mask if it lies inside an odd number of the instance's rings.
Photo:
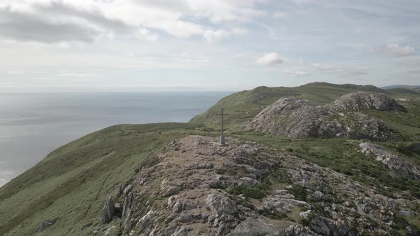
<svg viewBox="0 0 420 236">
<path fill-rule="evenodd" d="M 359 151 L 360 141 L 358 140 L 288 139 L 259 132 L 238 132 L 234 136 L 287 150 L 289 154 L 344 173 L 367 186 L 374 186 L 384 195 L 392 196 L 394 193 L 409 191 L 413 198 L 420 197 L 419 181 L 391 176 L 387 166 Z M 392 181 L 389 181 L 390 179 Z"/>
</svg>

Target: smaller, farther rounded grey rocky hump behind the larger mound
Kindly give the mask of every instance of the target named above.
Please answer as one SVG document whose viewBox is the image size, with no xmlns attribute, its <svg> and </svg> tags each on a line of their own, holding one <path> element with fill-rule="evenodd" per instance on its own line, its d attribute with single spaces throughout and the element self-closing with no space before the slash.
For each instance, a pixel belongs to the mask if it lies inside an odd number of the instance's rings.
<svg viewBox="0 0 420 236">
<path fill-rule="evenodd" d="M 378 109 L 380 111 L 406 112 L 394 98 L 380 92 L 351 92 L 332 102 L 329 107 L 337 111 Z"/>
</svg>

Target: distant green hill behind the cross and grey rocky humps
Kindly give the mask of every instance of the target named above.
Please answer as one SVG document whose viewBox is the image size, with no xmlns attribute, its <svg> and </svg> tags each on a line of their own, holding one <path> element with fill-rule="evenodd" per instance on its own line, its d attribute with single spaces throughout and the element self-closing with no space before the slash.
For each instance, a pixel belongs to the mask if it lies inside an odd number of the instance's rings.
<svg viewBox="0 0 420 236">
<path fill-rule="evenodd" d="M 314 82 L 299 87 L 256 87 L 253 90 L 236 92 L 224 97 L 204 114 L 199 114 L 191 119 L 191 123 L 216 124 L 218 119 L 214 114 L 217 114 L 221 107 L 224 107 L 225 111 L 229 113 L 229 116 L 226 117 L 227 123 L 240 124 L 252 119 L 262 109 L 281 97 L 300 97 L 315 104 L 327 104 L 346 93 L 367 90 L 385 92 L 372 85 L 334 85 L 326 82 Z"/>
</svg>

